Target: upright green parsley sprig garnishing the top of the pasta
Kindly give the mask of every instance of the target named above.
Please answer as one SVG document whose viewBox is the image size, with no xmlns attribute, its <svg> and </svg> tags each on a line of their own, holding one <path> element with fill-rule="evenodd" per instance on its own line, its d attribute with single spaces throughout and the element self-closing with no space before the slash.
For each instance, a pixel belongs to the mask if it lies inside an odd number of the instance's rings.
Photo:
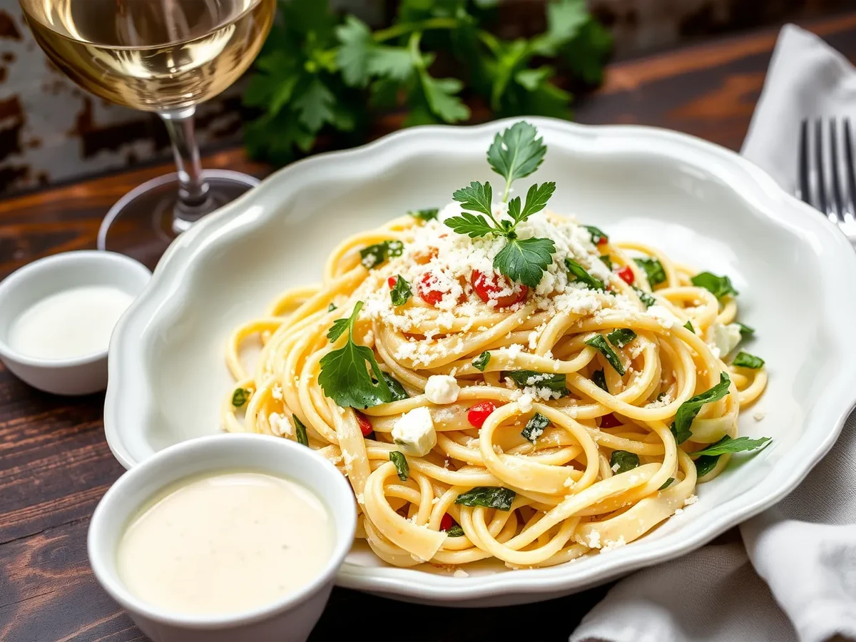
<svg viewBox="0 0 856 642">
<path fill-rule="evenodd" d="M 490 182 L 473 181 L 452 194 L 452 198 L 461 203 L 463 211 L 460 216 L 449 217 L 445 221 L 458 234 L 473 239 L 487 235 L 505 237 L 507 242 L 494 257 L 493 267 L 512 281 L 530 288 L 538 286 L 544 270 L 553 262 L 556 244 L 551 239 L 519 239 L 515 230 L 520 223 L 547 206 L 547 201 L 556 191 L 556 183 L 532 185 L 526 192 L 525 201 L 520 196 L 508 200 L 508 193 L 514 181 L 538 169 L 546 153 L 544 139 L 538 138 L 538 130 L 528 122 L 515 122 L 502 134 L 496 134 L 487 152 L 487 160 L 490 169 L 505 179 L 502 202 L 508 203 L 508 218 L 497 220 L 494 217 Z"/>
</svg>

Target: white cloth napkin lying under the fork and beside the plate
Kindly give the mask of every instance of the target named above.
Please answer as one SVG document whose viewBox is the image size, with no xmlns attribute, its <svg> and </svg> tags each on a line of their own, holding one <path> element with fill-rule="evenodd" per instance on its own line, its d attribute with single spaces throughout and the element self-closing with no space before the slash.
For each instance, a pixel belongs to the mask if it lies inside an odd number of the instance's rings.
<svg viewBox="0 0 856 642">
<path fill-rule="evenodd" d="M 832 115 L 856 118 L 856 68 L 782 28 L 742 153 L 793 191 L 800 119 Z M 856 413 L 803 484 L 740 534 L 742 545 L 621 580 L 570 642 L 856 640 Z"/>
</svg>

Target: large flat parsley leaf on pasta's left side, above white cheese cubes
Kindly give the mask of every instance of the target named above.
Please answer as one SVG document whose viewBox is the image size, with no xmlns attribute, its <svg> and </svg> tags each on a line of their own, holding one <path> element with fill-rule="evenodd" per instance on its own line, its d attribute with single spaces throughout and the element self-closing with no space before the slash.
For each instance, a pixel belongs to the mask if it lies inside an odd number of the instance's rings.
<svg viewBox="0 0 856 642">
<path fill-rule="evenodd" d="M 344 328 L 336 330 L 338 339 L 347 329 L 348 342 L 342 348 L 324 354 L 320 361 L 318 384 L 324 390 L 324 395 L 340 407 L 367 408 L 392 401 L 389 384 L 377 365 L 372 349 L 354 343 L 354 322 L 362 306 L 363 302 L 358 301 Z M 331 332 L 332 329 L 328 336 Z M 374 373 L 373 379 L 369 369 Z"/>
</svg>

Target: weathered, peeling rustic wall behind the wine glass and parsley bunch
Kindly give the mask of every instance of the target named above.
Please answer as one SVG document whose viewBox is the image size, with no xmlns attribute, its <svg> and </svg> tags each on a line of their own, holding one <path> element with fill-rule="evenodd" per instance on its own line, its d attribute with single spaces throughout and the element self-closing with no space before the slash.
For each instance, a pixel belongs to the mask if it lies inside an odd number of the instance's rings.
<svg viewBox="0 0 856 642">
<path fill-rule="evenodd" d="M 86 0 L 80 0 L 86 2 Z M 856 8 L 856 0 L 590 0 L 615 34 L 619 57 L 797 16 Z M 382 21 L 387 0 L 340 0 Z M 503 35 L 539 28 L 539 0 L 504 0 Z M 240 86 L 199 108 L 204 147 L 240 140 Z M 156 116 L 81 91 L 47 61 L 24 23 L 18 0 L 0 0 L 0 194 L 169 157 Z"/>
</svg>

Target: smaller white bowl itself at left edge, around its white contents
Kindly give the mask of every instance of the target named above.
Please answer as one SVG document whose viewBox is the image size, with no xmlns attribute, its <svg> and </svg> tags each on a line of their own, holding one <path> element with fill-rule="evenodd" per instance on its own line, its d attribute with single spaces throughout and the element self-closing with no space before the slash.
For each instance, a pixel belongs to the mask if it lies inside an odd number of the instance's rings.
<svg viewBox="0 0 856 642">
<path fill-rule="evenodd" d="M 107 387 L 107 350 L 70 359 L 44 359 L 9 346 L 9 327 L 39 300 L 70 288 L 113 286 L 137 297 L 152 272 L 123 254 L 80 250 L 33 261 L 0 282 L 0 360 L 33 388 L 88 395 Z"/>
</svg>

